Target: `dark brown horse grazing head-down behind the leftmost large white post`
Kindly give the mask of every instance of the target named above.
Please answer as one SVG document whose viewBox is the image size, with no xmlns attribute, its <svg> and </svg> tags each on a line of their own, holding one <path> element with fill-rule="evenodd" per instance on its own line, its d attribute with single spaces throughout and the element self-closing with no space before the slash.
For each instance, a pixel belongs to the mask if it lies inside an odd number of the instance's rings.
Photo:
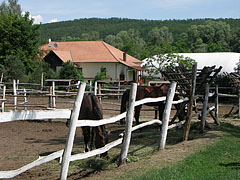
<svg viewBox="0 0 240 180">
<path fill-rule="evenodd" d="M 90 119 L 90 120 L 100 120 L 103 119 L 103 111 L 100 101 L 97 96 L 93 94 L 84 94 L 83 101 L 79 113 L 79 120 Z M 106 131 L 104 125 L 97 127 L 82 127 L 82 133 L 84 136 L 85 152 L 89 151 L 88 143 L 90 142 L 90 149 L 93 149 L 93 139 L 95 136 L 94 145 L 95 148 L 104 147 L 108 143 L 108 135 L 110 133 Z M 107 152 L 101 154 L 101 157 L 108 158 Z"/>
</svg>

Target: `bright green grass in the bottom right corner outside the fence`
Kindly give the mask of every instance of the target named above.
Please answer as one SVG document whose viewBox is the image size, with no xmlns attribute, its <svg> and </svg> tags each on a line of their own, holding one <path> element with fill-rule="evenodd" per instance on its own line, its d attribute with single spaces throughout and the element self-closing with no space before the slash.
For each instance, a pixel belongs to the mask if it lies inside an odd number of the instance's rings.
<svg viewBox="0 0 240 180">
<path fill-rule="evenodd" d="M 224 135 L 206 150 L 176 165 L 151 169 L 135 180 L 237 180 L 240 178 L 240 128 L 222 124 Z"/>
</svg>

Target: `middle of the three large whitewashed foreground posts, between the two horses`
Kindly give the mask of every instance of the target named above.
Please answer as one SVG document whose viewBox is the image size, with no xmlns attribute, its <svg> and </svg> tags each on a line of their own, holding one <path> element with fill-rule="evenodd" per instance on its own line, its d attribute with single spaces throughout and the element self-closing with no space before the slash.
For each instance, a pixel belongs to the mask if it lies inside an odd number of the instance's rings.
<svg viewBox="0 0 240 180">
<path fill-rule="evenodd" d="M 136 93 L 137 93 L 137 84 L 133 83 L 131 86 L 130 95 L 129 95 L 129 106 L 128 106 L 128 111 L 126 115 L 125 134 L 124 134 L 118 166 L 121 166 L 124 163 L 126 163 L 128 149 L 131 141 L 131 134 L 132 134 L 131 129 L 132 129 L 132 122 L 133 122 L 133 115 L 134 115 Z"/>
</svg>

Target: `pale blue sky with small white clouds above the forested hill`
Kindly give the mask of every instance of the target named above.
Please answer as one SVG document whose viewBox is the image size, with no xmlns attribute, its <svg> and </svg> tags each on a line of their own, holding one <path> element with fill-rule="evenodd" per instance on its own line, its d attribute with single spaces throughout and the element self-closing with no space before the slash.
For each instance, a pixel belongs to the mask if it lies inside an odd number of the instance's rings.
<svg viewBox="0 0 240 180">
<path fill-rule="evenodd" d="M 3 0 L 0 0 L 2 3 Z M 240 0 L 18 0 L 35 23 L 81 18 L 240 18 Z"/>
</svg>

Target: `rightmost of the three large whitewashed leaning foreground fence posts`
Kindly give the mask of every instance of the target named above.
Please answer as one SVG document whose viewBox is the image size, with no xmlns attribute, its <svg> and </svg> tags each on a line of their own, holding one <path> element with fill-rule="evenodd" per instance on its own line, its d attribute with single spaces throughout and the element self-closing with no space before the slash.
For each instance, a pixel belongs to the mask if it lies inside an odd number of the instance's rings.
<svg viewBox="0 0 240 180">
<path fill-rule="evenodd" d="M 170 85 L 170 88 L 168 90 L 167 94 L 167 101 L 165 104 L 164 112 L 163 112 L 163 117 L 162 117 L 162 130 L 161 130 L 161 138 L 160 138 L 160 144 L 158 149 L 164 149 L 166 140 L 167 140 L 167 131 L 168 131 L 168 122 L 169 122 L 169 117 L 172 109 L 172 102 L 173 98 L 175 95 L 175 90 L 176 90 L 176 82 L 172 82 Z"/>
</svg>

